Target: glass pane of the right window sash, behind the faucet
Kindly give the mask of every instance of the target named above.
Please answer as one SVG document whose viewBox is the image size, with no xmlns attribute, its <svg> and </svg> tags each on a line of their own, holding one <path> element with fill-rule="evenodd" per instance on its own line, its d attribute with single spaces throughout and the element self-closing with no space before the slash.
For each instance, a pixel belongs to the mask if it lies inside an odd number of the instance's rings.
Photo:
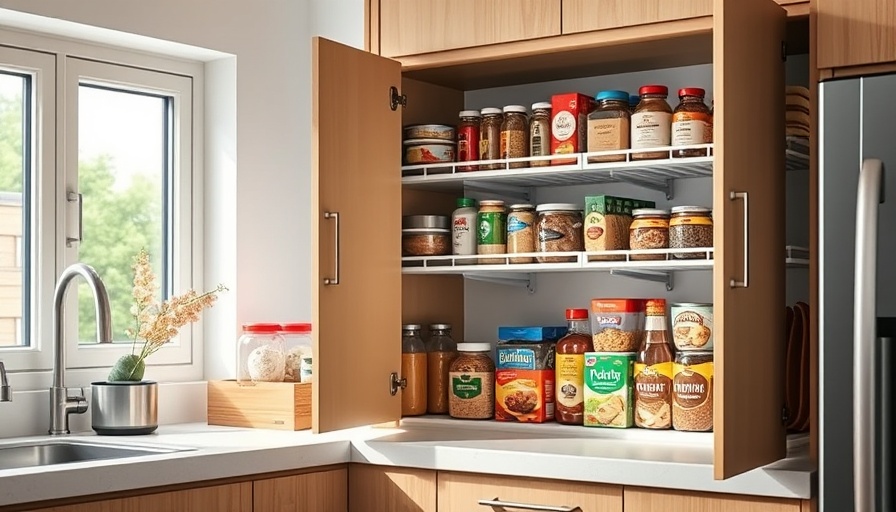
<svg viewBox="0 0 896 512">
<path fill-rule="evenodd" d="M 78 94 L 78 187 L 83 196 L 80 261 L 109 292 L 116 341 L 129 341 L 133 258 L 149 251 L 159 279 L 167 249 L 167 172 L 171 161 L 168 97 L 82 84 Z M 78 288 L 78 333 L 96 342 L 93 296 Z"/>
</svg>

